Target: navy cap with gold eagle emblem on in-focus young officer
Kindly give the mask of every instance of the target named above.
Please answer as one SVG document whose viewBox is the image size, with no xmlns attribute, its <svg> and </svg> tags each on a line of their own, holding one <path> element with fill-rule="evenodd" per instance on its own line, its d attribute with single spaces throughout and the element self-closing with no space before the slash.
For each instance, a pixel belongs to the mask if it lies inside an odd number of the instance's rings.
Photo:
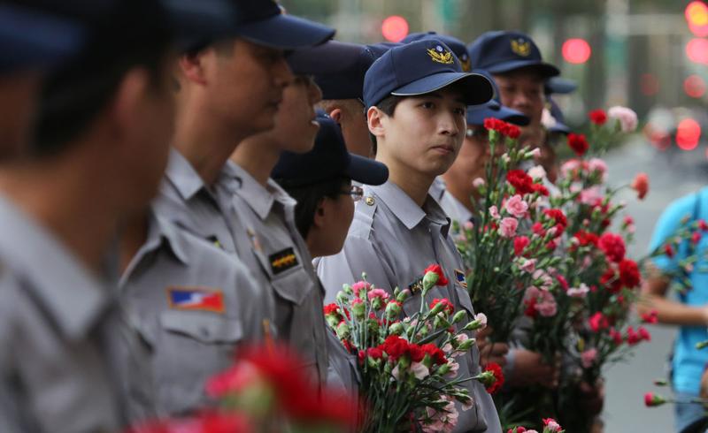
<svg viewBox="0 0 708 433">
<path fill-rule="evenodd" d="M 467 105 L 487 103 L 494 95 L 484 75 L 462 72 L 447 45 L 423 39 L 389 49 L 373 63 L 364 79 L 364 103 L 369 108 L 389 95 L 425 95 L 452 83 L 460 85 Z"/>
</svg>

